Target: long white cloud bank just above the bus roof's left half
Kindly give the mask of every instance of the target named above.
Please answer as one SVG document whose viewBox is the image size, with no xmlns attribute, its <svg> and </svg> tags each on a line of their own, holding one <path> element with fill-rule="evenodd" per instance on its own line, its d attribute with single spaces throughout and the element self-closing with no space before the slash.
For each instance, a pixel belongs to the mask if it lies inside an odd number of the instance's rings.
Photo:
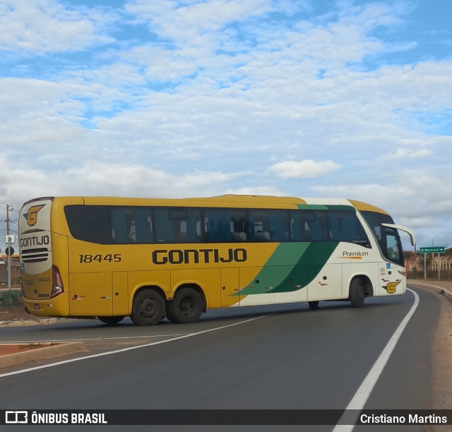
<svg viewBox="0 0 452 432">
<path fill-rule="evenodd" d="M 0 157 L 0 163 L 11 167 L 4 173 L 0 188 L 0 203 L 20 208 L 26 200 L 38 196 L 129 196 L 142 198 L 182 198 L 213 196 L 225 190 L 225 185 L 239 173 L 196 171 L 170 174 L 141 164 L 95 162 L 88 160 L 68 169 L 43 172 L 39 167 L 20 167 Z"/>
</svg>

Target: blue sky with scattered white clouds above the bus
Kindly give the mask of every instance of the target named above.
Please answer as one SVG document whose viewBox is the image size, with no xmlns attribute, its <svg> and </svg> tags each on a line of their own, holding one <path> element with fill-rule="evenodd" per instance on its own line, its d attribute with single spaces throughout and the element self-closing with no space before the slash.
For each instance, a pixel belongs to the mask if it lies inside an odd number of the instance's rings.
<svg viewBox="0 0 452 432">
<path fill-rule="evenodd" d="M 38 196 L 225 193 L 362 200 L 418 247 L 452 246 L 451 16 L 450 0 L 0 0 L 0 248 L 6 205 L 15 234 Z"/>
</svg>

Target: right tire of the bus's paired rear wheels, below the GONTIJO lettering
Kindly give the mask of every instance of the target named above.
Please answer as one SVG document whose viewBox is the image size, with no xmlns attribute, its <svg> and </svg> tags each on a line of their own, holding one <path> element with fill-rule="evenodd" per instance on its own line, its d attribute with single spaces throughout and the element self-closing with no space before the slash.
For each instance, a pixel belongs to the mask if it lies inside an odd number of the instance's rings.
<svg viewBox="0 0 452 432">
<path fill-rule="evenodd" d="M 179 288 L 174 300 L 168 305 L 169 316 L 167 318 L 173 323 L 191 324 L 196 323 L 203 312 L 203 299 L 196 289 L 185 287 Z"/>
</svg>

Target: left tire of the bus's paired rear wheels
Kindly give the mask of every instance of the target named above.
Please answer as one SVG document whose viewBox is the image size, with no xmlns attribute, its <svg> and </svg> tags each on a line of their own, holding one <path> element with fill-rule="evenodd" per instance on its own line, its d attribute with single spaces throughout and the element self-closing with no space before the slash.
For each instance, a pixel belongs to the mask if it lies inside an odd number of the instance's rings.
<svg viewBox="0 0 452 432">
<path fill-rule="evenodd" d="M 165 315 L 165 300 L 155 289 L 143 289 L 133 297 L 131 320 L 136 325 L 155 325 Z"/>
</svg>

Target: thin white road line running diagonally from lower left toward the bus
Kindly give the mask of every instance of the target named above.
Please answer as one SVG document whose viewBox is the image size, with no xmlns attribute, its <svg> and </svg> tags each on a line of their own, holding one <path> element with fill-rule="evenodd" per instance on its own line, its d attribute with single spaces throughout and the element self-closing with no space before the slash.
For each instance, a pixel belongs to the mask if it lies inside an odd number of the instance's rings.
<svg viewBox="0 0 452 432">
<path fill-rule="evenodd" d="M 0 374 L 0 378 L 5 378 L 7 376 L 13 376 L 13 375 L 19 375 L 20 373 L 27 373 L 27 372 L 33 372 L 33 371 L 39 371 L 40 369 L 45 369 L 45 368 L 52 368 L 54 366 L 60 366 L 62 364 L 69 364 L 69 363 L 73 363 L 75 361 L 82 361 L 82 360 L 88 360 L 88 359 L 95 359 L 97 357 L 102 357 L 102 356 L 109 356 L 111 354 L 119 354 L 121 352 L 127 352 L 127 351 L 132 351 L 132 349 L 138 349 L 138 348 L 145 348 L 145 347 L 153 347 L 154 345 L 160 345 L 160 344 L 166 344 L 167 342 L 174 342 L 175 340 L 181 340 L 181 339 L 186 339 L 187 337 L 194 337 L 194 336 L 198 336 L 198 335 L 203 335 L 204 333 L 208 333 L 208 332 L 215 332 L 217 330 L 222 330 L 224 328 L 229 328 L 229 327 L 234 327 L 234 325 L 241 325 L 241 324 L 245 324 L 245 323 L 251 323 L 251 321 L 255 321 L 261 318 L 265 318 L 266 316 L 270 316 L 273 315 L 272 313 L 268 313 L 267 315 L 263 315 L 263 316 L 258 316 L 256 318 L 251 318 L 249 320 L 244 320 L 244 321 L 239 321 L 239 323 L 234 323 L 234 324 L 228 324 L 228 325 L 222 325 L 221 327 L 215 327 L 215 328 L 210 328 L 208 330 L 202 330 L 201 332 L 195 332 L 195 333 L 189 333 L 187 335 L 182 335 L 182 336 L 178 336 L 178 337 L 173 337 L 172 339 L 165 339 L 165 340 L 159 340 L 157 342 L 150 342 L 149 344 L 144 344 L 144 345 L 137 345 L 136 347 L 128 347 L 128 348 L 122 348 L 122 349 L 116 349 L 114 351 L 109 351 L 109 352 L 102 352 L 100 354 L 93 354 L 90 356 L 84 356 L 84 357 L 78 357 L 76 359 L 69 359 L 69 360 L 64 360 L 64 361 L 57 361 L 56 363 L 52 363 L 52 364 L 44 364 L 42 366 L 35 366 L 34 368 L 28 368 L 28 369 L 22 369 L 20 371 L 14 371 L 14 372 L 8 372 L 8 373 L 1 373 Z"/>
</svg>

